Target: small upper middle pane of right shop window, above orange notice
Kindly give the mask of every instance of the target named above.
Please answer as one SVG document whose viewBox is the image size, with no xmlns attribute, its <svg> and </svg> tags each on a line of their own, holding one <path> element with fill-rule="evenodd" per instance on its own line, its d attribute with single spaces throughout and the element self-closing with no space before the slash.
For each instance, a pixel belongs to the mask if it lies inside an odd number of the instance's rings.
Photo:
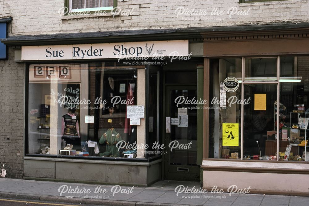
<svg viewBox="0 0 309 206">
<path fill-rule="evenodd" d="M 246 81 L 276 81 L 277 58 L 245 59 Z"/>
</svg>

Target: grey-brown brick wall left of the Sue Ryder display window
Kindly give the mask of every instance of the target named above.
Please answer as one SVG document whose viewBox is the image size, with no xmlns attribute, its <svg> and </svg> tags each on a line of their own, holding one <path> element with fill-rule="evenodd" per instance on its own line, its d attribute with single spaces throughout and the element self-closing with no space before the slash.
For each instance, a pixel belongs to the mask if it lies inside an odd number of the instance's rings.
<svg viewBox="0 0 309 206">
<path fill-rule="evenodd" d="M 14 63 L 14 50 L 8 60 L 0 60 L 0 164 L 6 177 L 23 175 L 24 68 Z"/>
</svg>

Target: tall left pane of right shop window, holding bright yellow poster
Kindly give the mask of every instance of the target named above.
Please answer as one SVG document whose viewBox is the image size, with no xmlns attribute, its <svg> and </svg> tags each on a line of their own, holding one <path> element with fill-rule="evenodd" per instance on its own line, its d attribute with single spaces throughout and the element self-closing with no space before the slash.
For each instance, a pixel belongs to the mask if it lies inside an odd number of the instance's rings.
<svg viewBox="0 0 309 206">
<path fill-rule="evenodd" d="M 232 92 L 223 86 L 228 77 L 241 80 L 241 59 L 210 61 L 209 157 L 240 159 L 241 84 Z"/>
</svg>

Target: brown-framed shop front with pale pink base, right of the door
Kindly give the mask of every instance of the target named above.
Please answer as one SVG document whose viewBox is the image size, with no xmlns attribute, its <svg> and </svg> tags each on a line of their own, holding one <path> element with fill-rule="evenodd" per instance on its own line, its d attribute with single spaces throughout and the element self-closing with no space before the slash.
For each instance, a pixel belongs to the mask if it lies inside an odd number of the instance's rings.
<svg viewBox="0 0 309 206">
<path fill-rule="evenodd" d="M 307 34 L 205 33 L 203 187 L 308 195 Z"/>
</svg>

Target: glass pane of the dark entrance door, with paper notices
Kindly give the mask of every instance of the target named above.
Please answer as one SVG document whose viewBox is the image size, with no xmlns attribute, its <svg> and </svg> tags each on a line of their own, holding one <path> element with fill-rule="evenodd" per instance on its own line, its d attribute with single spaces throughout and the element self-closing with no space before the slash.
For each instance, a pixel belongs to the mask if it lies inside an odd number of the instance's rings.
<svg viewBox="0 0 309 206">
<path fill-rule="evenodd" d="M 197 161 L 197 109 L 192 104 L 178 104 L 177 99 L 180 97 L 190 100 L 196 99 L 197 90 L 173 89 L 170 91 L 171 133 L 169 144 L 174 148 L 170 152 L 170 164 L 192 166 L 196 165 Z M 175 148 L 177 144 L 179 146 Z M 187 145 L 188 148 L 183 148 L 181 145 Z"/>
</svg>

